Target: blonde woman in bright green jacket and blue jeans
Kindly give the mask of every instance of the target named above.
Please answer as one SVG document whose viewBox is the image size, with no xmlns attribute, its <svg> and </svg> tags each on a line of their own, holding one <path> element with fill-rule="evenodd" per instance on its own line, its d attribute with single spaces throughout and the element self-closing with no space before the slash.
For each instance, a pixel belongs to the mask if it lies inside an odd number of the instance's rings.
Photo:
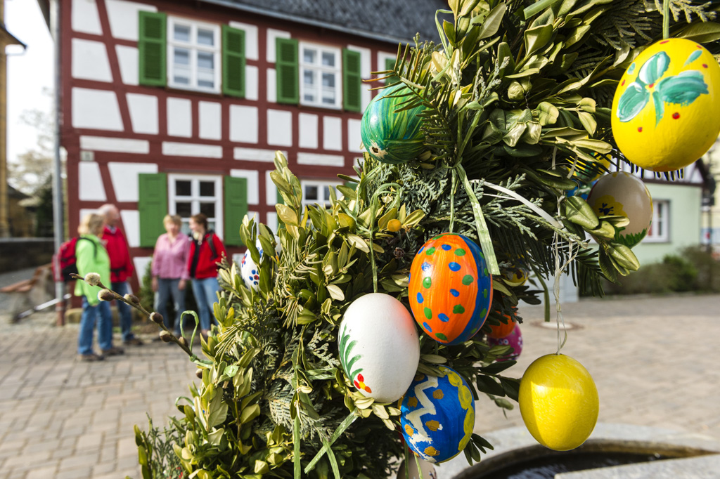
<svg viewBox="0 0 720 479">
<path fill-rule="evenodd" d="M 99 214 L 86 214 L 80 226 L 80 237 L 75 246 L 78 273 L 82 276 L 87 273 L 98 273 L 104 285 L 110 284 L 110 258 L 107 255 L 100 237 L 104 227 L 104 218 Z M 78 334 L 78 359 L 82 361 L 100 361 L 105 356 L 121 355 L 120 347 L 112 346 L 112 315 L 110 304 L 100 301 L 97 294 L 98 286 L 90 286 L 85 281 L 76 281 L 75 296 L 83 297 L 83 314 L 80 319 L 80 333 Z M 99 317 L 98 317 L 99 315 Z M 96 354 L 92 349 L 92 336 L 97 320 L 97 342 L 102 354 Z"/>
</svg>

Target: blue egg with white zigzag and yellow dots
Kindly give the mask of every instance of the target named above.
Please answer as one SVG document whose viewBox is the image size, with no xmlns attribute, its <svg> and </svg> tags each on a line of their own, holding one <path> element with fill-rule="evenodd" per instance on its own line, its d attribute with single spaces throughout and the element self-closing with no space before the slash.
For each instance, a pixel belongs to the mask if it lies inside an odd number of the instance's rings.
<svg viewBox="0 0 720 479">
<path fill-rule="evenodd" d="M 465 380 L 438 366 L 443 375 L 418 374 L 400 404 L 402 437 L 420 458 L 444 462 L 461 452 L 472 436 L 475 402 Z"/>
</svg>

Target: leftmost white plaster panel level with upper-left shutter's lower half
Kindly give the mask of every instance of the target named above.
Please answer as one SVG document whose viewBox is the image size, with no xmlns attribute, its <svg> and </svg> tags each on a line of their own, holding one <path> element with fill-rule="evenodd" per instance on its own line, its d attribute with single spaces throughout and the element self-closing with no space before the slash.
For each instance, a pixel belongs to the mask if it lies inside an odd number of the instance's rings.
<svg viewBox="0 0 720 479">
<path fill-rule="evenodd" d="M 122 117 L 114 91 L 73 88 L 72 123 L 75 128 L 122 132 Z"/>
</svg>

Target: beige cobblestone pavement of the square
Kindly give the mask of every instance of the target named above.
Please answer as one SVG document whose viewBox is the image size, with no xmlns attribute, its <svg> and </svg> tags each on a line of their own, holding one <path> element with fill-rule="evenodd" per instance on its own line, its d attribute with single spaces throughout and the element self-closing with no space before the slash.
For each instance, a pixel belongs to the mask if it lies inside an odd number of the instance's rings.
<svg viewBox="0 0 720 479">
<path fill-rule="evenodd" d="M 562 352 L 595 378 L 600 421 L 720 439 L 720 296 L 591 300 L 563 311 L 581 329 L 568 332 Z M 508 370 L 517 377 L 557 348 L 556 332 L 536 326 L 541 308 L 521 312 L 525 349 Z M 8 324 L 0 314 L 0 476 L 139 478 L 132 426 L 146 429 L 146 412 L 164 424 L 194 366 L 158 342 L 77 362 L 77 326 L 53 327 L 54 319 L 38 313 Z M 487 398 L 476 417 L 479 434 L 522 424 L 517 408 L 505 419 Z"/>
</svg>

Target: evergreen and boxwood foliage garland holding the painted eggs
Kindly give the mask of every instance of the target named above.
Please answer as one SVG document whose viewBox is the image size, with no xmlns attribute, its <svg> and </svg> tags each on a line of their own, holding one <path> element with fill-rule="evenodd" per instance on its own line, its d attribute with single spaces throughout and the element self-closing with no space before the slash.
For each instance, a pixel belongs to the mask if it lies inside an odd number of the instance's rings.
<svg viewBox="0 0 720 479">
<path fill-rule="evenodd" d="M 384 72 L 407 86 L 400 109 L 424 107 L 426 148 L 418 158 L 387 165 L 365 155 L 357 178 L 341 175 L 354 187 L 338 186 L 341 198 L 331 189 L 325 208 L 302 204 L 300 181 L 276 155 L 271 178 L 282 194 L 283 226 L 276 237 L 243 220 L 240 236 L 260 269 L 259 287 L 246 288 L 236 265 L 220 271 L 219 327 L 202 342 L 207 359 L 192 355 L 202 383 L 191 386 L 192 398 L 179 403 L 184 416 L 173 420 L 184 437 L 176 455 L 197 478 L 390 474 L 393 458 L 406 453 L 396 432 L 400 411 L 355 390 L 338 360 L 338 326 L 366 293 L 407 304 L 410 263 L 438 233 L 465 234 L 488 258 L 495 294 L 484 332 L 503 315 L 521 321 L 518 301 L 536 304 L 547 294 L 544 284 L 531 290 L 508 279 L 519 264 L 546 277 L 567 265 L 580 289 L 595 294 L 603 279 L 639 267 L 614 240 L 627 220 L 598 218 L 566 192 L 581 182 L 578 173 L 603 170 L 601 158 L 623 161 L 613 148 L 608 99 L 638 53 L 632 48 L 660 35 L 654 4 L 449 6 L 441 13 L 452 20 L 437 21 L 440 42 L 400 48 Z M 671 10 L 698 17 L 690 28 L 714 16 L 708 4 L 688 0 L 672 1 Z M 673 32 L 699 35 L 686 27 Z M 598 239 L 598 252 L 588 248 L 586 232 Z M 282 252 L 269 254 L 278 242 Z M 476 399 L 509 409 L 518 380 L 503 372 L 514 362 L 495 362 L 507 352 L 482 334 L 456 346 L 420 334 L 418 371 L 438 373 L 436 365 L 447 364 L 477 387 Z M 151 455 L 140 439 L 140 456 Z M 487 447 L 473 434 L 464 452 L 472 463 Z"/>
</svg>

